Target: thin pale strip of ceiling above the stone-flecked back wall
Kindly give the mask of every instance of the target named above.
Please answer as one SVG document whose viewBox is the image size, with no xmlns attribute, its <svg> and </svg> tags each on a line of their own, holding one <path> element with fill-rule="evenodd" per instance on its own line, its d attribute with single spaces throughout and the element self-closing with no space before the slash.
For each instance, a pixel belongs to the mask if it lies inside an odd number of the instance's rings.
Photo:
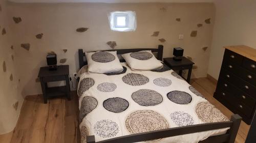
<svg viewBox="0 0 256 143">
<path fill-rule="evenodd" d="M 212 3 L 214 0 L 9 0 L 15 3 Z"/>
</svg>

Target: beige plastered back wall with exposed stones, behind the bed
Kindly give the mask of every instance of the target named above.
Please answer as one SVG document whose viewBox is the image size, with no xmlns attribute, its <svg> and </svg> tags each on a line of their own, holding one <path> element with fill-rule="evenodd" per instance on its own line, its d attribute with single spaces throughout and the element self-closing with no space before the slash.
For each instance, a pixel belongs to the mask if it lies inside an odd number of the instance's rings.
<svg viewBox="0 0 256 143">
<path fill-rule="evenodd" d="M 164 57 L 169 57 L 173 47 L 182 47 L 185 56 L 196 63 L 192 76 L 205 77 L 207 73 L 215 14 L 213 4 L 12 3 L 8 9 L 15 17 L 9 20 L 15 33 L 14 45 L 25 95 L 41 93 L 36 78 L 39 67 L 46 66 L 48 52 L 57 53 L 58 64 L 69 64 L 73 73 L 78 69 L 79 48 L 92 51 L 163 44 Z M 126 10 L 136 12 L 137 30 L 111 31 L 107 14 Z M 178 40 L 179 34 L 184 34 L 184 40 Z"/>
</svg>

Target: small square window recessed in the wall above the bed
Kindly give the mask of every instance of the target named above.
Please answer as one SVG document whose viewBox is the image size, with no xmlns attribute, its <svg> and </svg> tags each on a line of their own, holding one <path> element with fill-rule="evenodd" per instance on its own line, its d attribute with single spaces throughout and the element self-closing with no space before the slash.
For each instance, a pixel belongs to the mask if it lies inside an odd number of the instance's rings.
<svg viewBox="0 0 256 143">
<path fill-rule="evenodd" d="M 136 30 L 136 14 L 132 11 L 115 11 L 109 15 L 110 28 L 113 31 L 135 31 Z"/>
</svg>

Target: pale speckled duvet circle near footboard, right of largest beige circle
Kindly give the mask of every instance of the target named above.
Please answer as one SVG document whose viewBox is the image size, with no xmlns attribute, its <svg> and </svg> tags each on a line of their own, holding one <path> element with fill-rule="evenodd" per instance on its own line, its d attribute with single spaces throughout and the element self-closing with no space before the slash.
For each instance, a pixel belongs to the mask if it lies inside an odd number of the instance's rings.
<svg viewBox="0 0 256 143">
<path fill-rule="evenodd" d="M 170 113 L 170 119 L 179 127 L 194 125 L 194 119 L 188 113 L 183 111 L 175 111 Z"/>
</svg>

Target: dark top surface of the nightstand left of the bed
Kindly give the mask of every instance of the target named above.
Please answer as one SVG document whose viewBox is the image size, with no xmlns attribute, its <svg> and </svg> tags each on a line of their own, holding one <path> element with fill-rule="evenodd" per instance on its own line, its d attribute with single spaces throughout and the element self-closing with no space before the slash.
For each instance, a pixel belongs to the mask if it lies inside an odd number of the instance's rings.
<svg viewBox="0 0 256 143">
<path fill-rule="evenodd" d="M 58 66 L 57 70 L 49 70 L 49 67 L 41 67 L 38 77 L 69 75 L 69 65 Z"/>
</svg>

